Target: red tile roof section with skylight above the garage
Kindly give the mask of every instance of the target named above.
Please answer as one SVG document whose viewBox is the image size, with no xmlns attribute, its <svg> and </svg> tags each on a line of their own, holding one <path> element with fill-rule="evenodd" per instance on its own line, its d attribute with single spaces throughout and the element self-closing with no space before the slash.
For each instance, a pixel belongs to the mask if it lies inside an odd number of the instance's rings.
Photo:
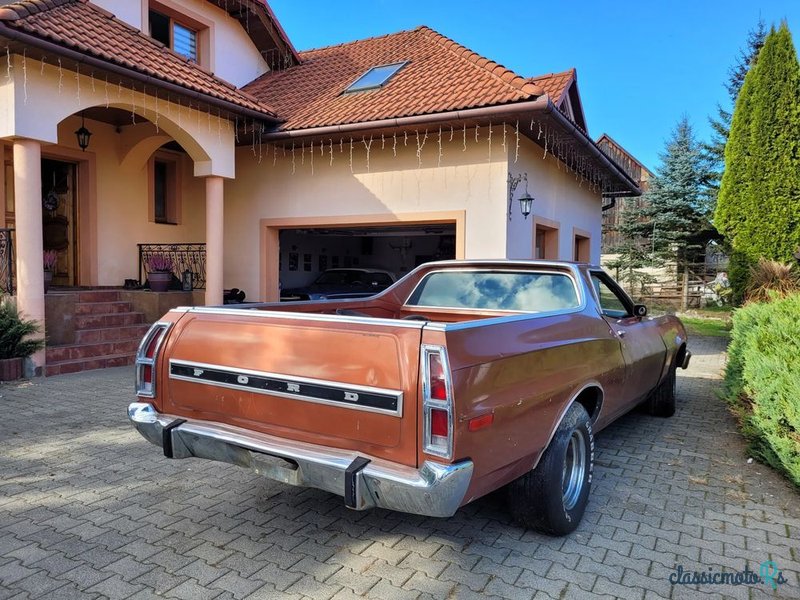
<svg viewBox="0 0 800 600">
<path fill-rule="evenodd" d="M 359 123 L 532 100 L 542 89 L 453 40 L 418 27 L 301 52 L 302 64 L 243 89 L 286 119 L 281 129 Z M 371 67 L 409 61 L 380 89 L 343 94 Z"/>
</svg>

